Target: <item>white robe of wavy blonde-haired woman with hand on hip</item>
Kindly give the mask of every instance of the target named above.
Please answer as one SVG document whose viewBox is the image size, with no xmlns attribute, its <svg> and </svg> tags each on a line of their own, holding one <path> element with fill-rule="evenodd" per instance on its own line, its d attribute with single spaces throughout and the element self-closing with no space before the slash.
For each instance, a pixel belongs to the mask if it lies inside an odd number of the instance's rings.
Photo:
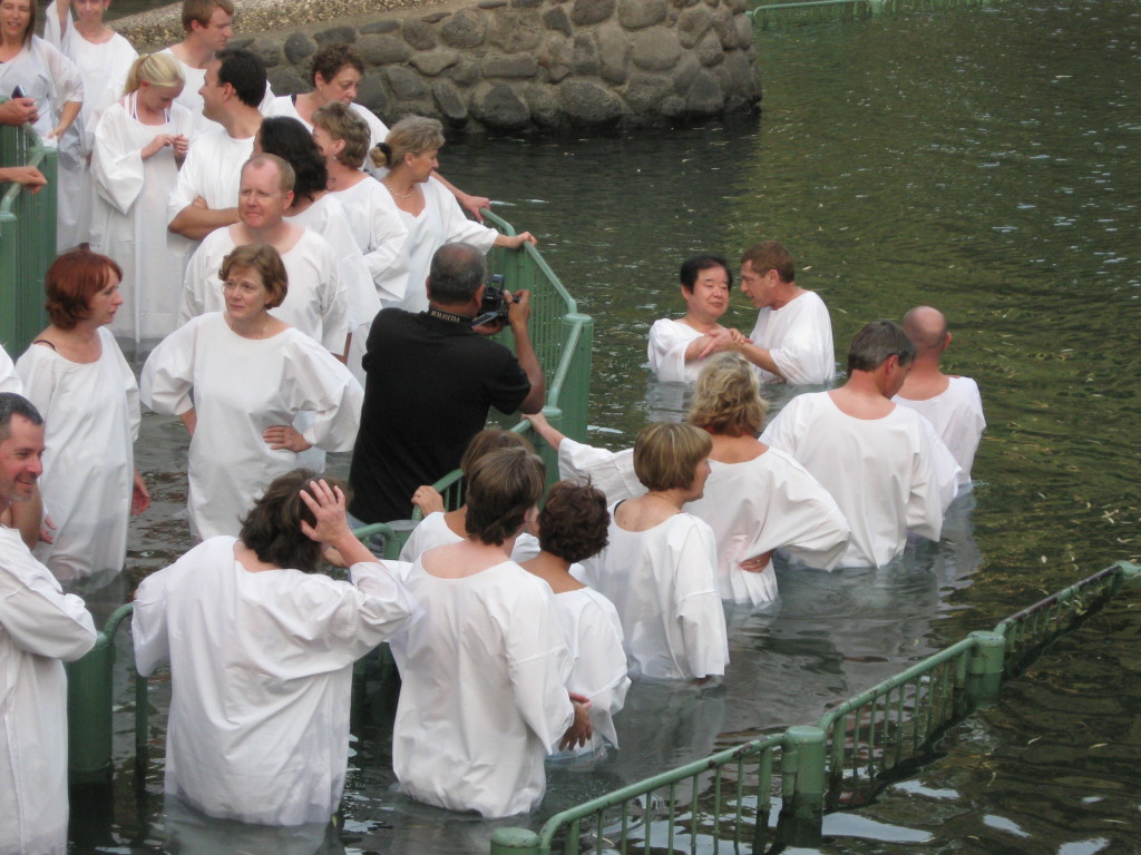
<svg viewBox="0 0 1141 855">
<path fill-rule="evenodd" d="M 831 570 L 848 546 L 848 521 L 835 499 L 796 461 L 776 448 L 744 463 L 710 461 L 705 495 L 686 511 L 717 538 L 722 600 L 764 605 L 777 595 L 770 561 L 760 572 L 741 562 L 785 549 L 811 567 Z"/>
</svg>

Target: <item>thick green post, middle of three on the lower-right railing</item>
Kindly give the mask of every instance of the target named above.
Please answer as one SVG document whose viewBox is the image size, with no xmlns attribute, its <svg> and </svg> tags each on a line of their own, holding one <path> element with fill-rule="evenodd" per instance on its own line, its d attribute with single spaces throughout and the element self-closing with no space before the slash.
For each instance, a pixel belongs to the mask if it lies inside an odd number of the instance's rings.
<svg viewBox="0 0 1141 855">
<path fill-rule="evenodd" d="M 819 842 L 824 819 L 825 732 L 795 725 L 780 749 L 782 839 L 793 846 Z M 760 819 L 758 819 L 760 821 Z"/>
</svg>

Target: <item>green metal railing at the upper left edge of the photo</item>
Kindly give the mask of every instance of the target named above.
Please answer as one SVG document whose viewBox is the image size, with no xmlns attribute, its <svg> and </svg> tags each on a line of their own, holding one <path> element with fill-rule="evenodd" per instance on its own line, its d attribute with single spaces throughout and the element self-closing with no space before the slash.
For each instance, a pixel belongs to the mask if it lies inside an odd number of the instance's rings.
<svg viewBox="0 0 1141 855">
<path fill-rule="evenodd" d="M 38 193 L 0 185 L 0 343 L 15 359 L 48 325 L 43 274 L 56 256 L 56 150 L 26 125 L 0 127 L 0 165 L 35 166 L 48 179 Z"/>
</svg>

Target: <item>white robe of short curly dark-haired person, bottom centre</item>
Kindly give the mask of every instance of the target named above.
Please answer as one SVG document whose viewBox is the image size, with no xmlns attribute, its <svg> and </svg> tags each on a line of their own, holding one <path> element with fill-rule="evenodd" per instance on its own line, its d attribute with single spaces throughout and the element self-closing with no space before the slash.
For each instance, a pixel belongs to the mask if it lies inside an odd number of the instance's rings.
<svg viewBox="0 0 1141 855">
<path fill-rule="evenodd" d="M 576 569 L 575 572 L 582 571 Z M 618 612 L 614 603 L 597 591 L 578 588 L 555 594 L 555 613 L 574 662 L 567 690 L 589 698 L 591 703 L 590 723 L 594 736 L 574 754 L 597 749 L 604 738 L 617 748 L 614 716 L 622 710 L 630 689 Z"/>
</svg>

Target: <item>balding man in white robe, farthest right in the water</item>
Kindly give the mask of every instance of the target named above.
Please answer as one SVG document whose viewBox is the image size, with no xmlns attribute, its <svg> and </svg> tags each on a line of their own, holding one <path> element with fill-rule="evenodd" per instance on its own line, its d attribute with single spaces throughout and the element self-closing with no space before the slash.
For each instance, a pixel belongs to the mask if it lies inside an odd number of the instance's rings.
<svg viewBox="0 0 1141 855">
<path fill-rule="evenodd" d="M 987 426 L 978 384 L 970 377 L 944 374 L 939 359 L 950 347 L 947 318 L 938 309 L 920 306 L 904 316 L 904 332 L 915 344 L 915 363 L 896 404 L 924 416 L 958 463 L 958 489 L 971 488 L 974 453 Z"/>
</svg>

